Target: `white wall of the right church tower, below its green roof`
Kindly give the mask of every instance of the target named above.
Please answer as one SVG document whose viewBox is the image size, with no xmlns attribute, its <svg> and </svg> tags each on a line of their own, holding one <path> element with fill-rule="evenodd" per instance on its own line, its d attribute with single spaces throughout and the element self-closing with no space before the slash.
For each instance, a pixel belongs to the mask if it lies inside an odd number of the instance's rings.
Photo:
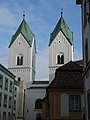
<svg viewBox="0 0 90 120">
<path fill-rule="evenodd" d="M 56 56 L 64 54 L 64 64 L 73 60 L 73 45 L 69 43 L 63 33 L 60 31 L 49 46 L 49 81 L 55 76 L 55 70 L 63 64 L 57 64 Z"/>
</svg>

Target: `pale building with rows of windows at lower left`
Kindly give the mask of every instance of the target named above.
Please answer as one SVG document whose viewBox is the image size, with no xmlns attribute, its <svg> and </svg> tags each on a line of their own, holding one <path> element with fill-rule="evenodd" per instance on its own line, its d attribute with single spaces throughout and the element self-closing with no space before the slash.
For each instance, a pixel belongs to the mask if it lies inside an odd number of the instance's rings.
<svg viewBox="0 0 90 120">
<path fill-rule="evenodd" d="M 25 85 L 0 64 L 0 120 L 23 120 L 25 89 Z"/>
</svg>

